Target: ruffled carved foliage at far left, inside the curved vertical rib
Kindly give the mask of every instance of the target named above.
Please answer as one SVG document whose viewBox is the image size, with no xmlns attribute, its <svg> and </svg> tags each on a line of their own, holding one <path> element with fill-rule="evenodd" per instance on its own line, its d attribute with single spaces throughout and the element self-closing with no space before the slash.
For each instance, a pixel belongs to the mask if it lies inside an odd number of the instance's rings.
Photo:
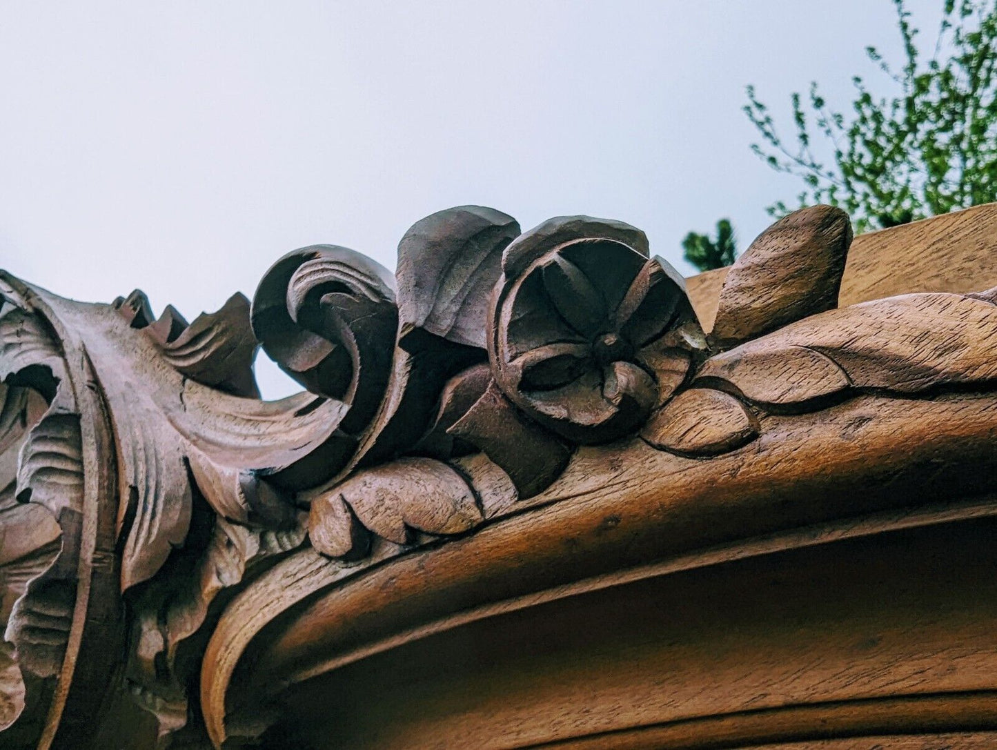
<svg viewBox="0 0 997 750">
<path fill-rule="evenodd" d="M 6 279 L 0 289 L 0 724 L 8 728 L 29 704 L 43 710 L 63 665 L 84 490 L 80 415 L 55 333 Z"/>
</svg>

